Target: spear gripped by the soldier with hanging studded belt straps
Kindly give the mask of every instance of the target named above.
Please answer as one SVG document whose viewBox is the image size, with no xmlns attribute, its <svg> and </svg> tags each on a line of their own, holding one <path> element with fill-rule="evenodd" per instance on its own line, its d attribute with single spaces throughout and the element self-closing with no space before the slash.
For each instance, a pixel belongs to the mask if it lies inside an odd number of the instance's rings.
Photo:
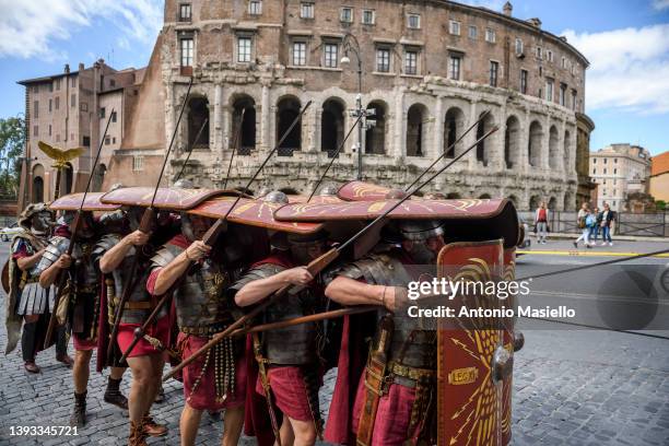
<svg viewBox="0 0 669 446">
<path fill-rule="evenodd" d="M 265 165 L 269 162 L 269 160 L 271 159 L 271 156 L 279 150 L 279 148 L 281 146 L 281 144 L 283 143 L 283 141 L 285 141 L 285 139 L 289 137 L 289 134 L 291 133 L 291 131 L 293 131 L 293 129 L 295 128 L 295 126 L 297 125 L 297 122 L 300 122 L 300 120 L 302 119 L 302 116 L 304 115 L 304 113 L 307 110 L 307 108 L 309 108 L 309 106 L 312 105 L 312 101 L 309 101 L 308 103 L 306 103 L 306 105 L 302 108 L 302 110 L 300 111 L 300 114 L 295 117 L 295 119 L 293 120 L 293 122 L 291 124 L 291 126 L 285 130 L 285 132 L 281 136 L 281 139 L 279 140 L 279 142 L 277 143 L 277 145 L 274 145 L 274 148 L 270 151 L 270 153 L 267 155 L 267 157 L 265 159 L 265 161 L 262 162 L 262 164 L 260 165 L 260 167 L 258 167 L 258 169 L 256 171 L 256 173 L 254 174 L 254 176 L 248 180 L 248 184 L 246 185 L 246 190 L 248 190 L 248 188 L 253 185 L 253 183 L 256 180 L 256 178 L 258 177 L 258 175 L 260 175 L 260 172 L 262 172 L 262 168 L 265 167 Z M 231 214 L 231 212 L 235 209 L 235 207 L 237 206 L 237 203 L 239 202 L 239 200 L 242 200 L 242 196 L 243 193 L 237 195 L 235 201 L 233 202 L 233 204 L 230 207 L 230 209 L 227 210 L 227 212 L 225 213 L 224 216 L 222 216 L 221 219 L 216 220 L 216 222 L 207 231 L 207 233 L 204 234 L 204 236 L 202 237 L 202 242 L 204 242 L 204 244 L 207 246 L 212 246 L 216 238 L 219 237 L 219 235 L 225 230 L 226 226 L 226 220 L 228 218 L 228 215 Z M 155 308 L 153 309 L 153 312 L 151 312 L 151 314 L 149 315 L 149 317 L 146 318 L 146 320 L 144 321 L 144 324 L 142 324 L 141 327 L 138 327 L 134 329 L 134 338 L 132 339 L 132 342 L 130 343 L 130 345 L 128 347 L 128 349 L 124 352 L 124 355 L 121 357 L 121 362 L 126 360 L 126 357 L 128 356 L 128 354 L 130 354 L 130 352 L 132 351 L 132 349 L 134 348 L 134 345 L 137 345 L 137 343 L 143 338 L 144 333 L 146 332 L 146 329 L 149 328 L 149 326 L 151 324 L 153 324 L 153 320 L 155 320 L 155 318 L 157 317 L 161 308 L 165 305 L 165 303 L 167 302 L 167 300 L 169 298 L 169 296 L 172 295 L 172 292 L 178 287 L 178 285 L 180 284 L 180 282 L 184 280 L 185 274 L 183 274 L 175 283 L 172 284 L 172 286 L 169 287 L 169 290 L 163 294 L 163 296 L 161 297 L 161 300 L 159 301 L 157 305 L 155 306 Z M 234 325 L 234 324 L 233 324 Z M 237 328 L 238 326 L 236 326 L 235 328 Z"/>
</svg>

